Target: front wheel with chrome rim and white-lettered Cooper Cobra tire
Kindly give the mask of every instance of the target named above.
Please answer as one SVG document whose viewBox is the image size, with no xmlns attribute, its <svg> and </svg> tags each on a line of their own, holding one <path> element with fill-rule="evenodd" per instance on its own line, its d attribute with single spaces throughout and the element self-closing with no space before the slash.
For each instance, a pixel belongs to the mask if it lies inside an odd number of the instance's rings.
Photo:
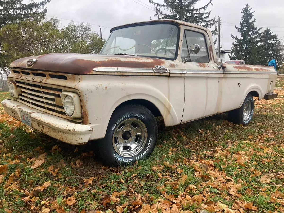
<svg viewBox="0 0 284 213">
<path fill-rule="evenodd" d="M 124 166 L 149 156 L 156 145 L 157 122 L 142 105 L 124 105 L 110 118 L 105 138 L 98 140 L 99 155 L 107 166 Z"/>
</svg>

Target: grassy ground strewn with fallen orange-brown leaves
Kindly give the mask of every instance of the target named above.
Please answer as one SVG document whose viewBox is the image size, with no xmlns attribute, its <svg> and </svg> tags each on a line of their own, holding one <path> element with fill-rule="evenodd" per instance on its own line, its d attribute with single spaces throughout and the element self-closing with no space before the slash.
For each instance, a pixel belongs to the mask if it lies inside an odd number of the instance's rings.
<svg viewBox="0 0 284 213">
<path fill-rule="evenodd" d="M 0 106 L 0 212 L 284 212 L 283 84 L 278 99 L 255 101 L 249 126 L 226 114 L 158 120 L 154 153 L 125 168 L 104 167 L 95 142 L 62 143 Z"/>
</svg>

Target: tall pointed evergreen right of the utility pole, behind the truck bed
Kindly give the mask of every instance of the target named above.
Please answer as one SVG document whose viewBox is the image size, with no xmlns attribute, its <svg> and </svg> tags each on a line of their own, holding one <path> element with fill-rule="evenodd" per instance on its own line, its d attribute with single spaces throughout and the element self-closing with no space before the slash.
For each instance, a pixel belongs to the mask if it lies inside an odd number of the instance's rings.
<svg viewBox="0 0 284 213">
<path fill-rule="evenodd" d="M 231 54 L 229 55 L 231 60 L 245 60 L 247 64 L 257 63 L 257 45 L 259 31 L 261 28 L 254 26 L 255 19 L 252 20 L 254 12 L 251 12 L 249 4 L 243 8 L 242 20 L 240 27 L 235 26 L 237 31 L 241 34 L 241 37 L 233 36 Z"/>
</svg>

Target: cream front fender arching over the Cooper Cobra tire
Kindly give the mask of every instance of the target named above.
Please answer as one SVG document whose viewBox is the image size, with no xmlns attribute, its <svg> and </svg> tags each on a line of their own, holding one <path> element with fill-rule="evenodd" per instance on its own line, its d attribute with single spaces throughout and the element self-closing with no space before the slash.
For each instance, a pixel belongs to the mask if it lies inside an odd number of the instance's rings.
<svg viewBox="0 0 284 213">
<path fill-rule="evenodd" d="M 180 124 L 184 105 L 184 93 L 181 91 L 184 88 L 183 84 L 179 85 L 181 88 L 177 91 L 179 86 L 176 82 L 171 84 L 169 77 L 160 76 L 80 76 L 76 89 L 81 95 L 83 123 L 94 129 L 90 139 L 103 138 L 114 110 L 133 99 L 153 103 L 166 126 Z M 174 96 L 172 93 L 175 91 Z"/>
</svg>

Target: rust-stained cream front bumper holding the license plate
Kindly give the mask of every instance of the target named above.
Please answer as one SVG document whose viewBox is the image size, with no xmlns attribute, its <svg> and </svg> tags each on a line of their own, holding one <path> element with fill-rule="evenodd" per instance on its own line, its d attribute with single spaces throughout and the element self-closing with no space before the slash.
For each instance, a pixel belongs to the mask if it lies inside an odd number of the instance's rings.
<svg viewBox="0 0 284 213">
<path fill-rule="evenodd" d="M 36 110 L 16 100 L 5 99 L 1 103 L 7 114 L 17 120 L 21 120 L 20 110 L 30 113 L 32 128 L 65 143 L 74 145 L 86 144 L 93 132 L 93 128 L 90 126 L 77 124 L 65 118 Z"/>
</svg>

